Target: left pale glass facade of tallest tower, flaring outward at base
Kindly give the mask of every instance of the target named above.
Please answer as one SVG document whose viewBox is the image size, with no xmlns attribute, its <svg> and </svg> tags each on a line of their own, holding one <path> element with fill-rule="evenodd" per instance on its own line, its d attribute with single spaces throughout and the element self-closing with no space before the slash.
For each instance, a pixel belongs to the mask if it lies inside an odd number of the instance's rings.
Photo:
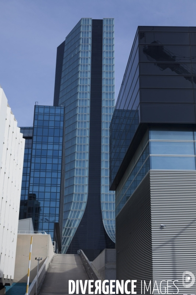
<svg viewBox="0 0 196 295">
<path fill-rule="evenodd" d="M 65 197 L 62 253 L 66 253 L 88 198 L 92 19 L 65 40 L 59 105 L 65 105 Z"/>
</svg>

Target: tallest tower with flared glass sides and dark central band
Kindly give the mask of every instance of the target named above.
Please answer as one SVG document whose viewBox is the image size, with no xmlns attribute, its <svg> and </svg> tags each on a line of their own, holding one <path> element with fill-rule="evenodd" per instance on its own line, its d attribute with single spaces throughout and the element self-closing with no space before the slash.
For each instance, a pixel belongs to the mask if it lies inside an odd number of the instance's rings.
<svg viewBox="0 0 196 295">
<path fill-rule="evenodd" d="M 114 247 L 109 125 L 114 97 L 114 19 L 82 18 L 57 48 L 54 106 L 65 106 L 62 253 L 90 260 Z"/>
</svg>

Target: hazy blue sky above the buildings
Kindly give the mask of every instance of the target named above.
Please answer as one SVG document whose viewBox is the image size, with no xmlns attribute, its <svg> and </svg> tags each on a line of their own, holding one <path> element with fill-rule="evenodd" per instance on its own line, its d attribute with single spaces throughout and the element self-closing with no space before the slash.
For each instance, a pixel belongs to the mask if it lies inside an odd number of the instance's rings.
<svg viewBox="0 0 196 295">
<path fill-rule="evenodd" d="M 0 85 L 31 126 L 52 105 L 56 48 L 82 17 L 115 18 L 116 98 L 138 26 L 196 26 L 196 0 L 0 0 Z"/>
</svg>

